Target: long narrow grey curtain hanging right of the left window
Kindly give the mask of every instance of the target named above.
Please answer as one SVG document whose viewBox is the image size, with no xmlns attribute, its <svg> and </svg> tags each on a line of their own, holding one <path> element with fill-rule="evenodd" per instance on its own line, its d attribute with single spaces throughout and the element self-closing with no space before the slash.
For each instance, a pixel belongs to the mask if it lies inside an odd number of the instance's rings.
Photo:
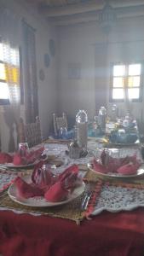
<svg viewBox="0 0 144 256">
<path fill-rule="evenodd" d="M 36 121 L 38 116 L 37 96 L 37 65 L 36 65 L 36 43 L 35 30 L 22 20 L 23 32 L 23 59 L 25 63 L 26 81 L 24 88 L 24 102 L 26 109 L 26 123 Z"/>
</svg>

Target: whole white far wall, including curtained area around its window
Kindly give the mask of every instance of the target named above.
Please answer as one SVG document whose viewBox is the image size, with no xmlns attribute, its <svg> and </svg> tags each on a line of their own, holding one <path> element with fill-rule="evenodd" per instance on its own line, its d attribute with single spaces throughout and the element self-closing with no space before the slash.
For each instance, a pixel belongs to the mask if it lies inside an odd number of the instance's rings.
<svg viewBox="0 0 144 256">
<path fill-rule="evenodd" d="M 109 67 L 114 61 L 144 60 L 144 20 L 118 20 L 108 34 L 96 22 L 60 29 L 60 111 L 75 115 L 84 108 L 92 118 L 101 105 L 108 104 Z M 80 79 L 68 79 L 68 63 L 80 63 Z M 141 119 L 143 103 L 134 103 Z M 123 113 L 124 105 L 119 104 Z"/>
</svg>

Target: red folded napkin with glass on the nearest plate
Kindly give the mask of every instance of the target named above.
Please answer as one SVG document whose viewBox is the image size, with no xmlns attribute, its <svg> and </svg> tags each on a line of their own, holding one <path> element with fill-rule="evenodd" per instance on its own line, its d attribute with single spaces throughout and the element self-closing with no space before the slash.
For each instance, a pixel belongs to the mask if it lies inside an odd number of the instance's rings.
<svg viewBox="0 0 144 256">
<path fill-rule="evenodd" d="M 16 195 L 23 198 L 43 195 L 46 201 L 63 201 L 78 182 L 78 166 L 72 165 L 58 177 L 54 177 L 49 167 L 39 162 L 32 172 L 32 183 L 26 183 L 17 177 L 14 184 Z"/>
</svg>

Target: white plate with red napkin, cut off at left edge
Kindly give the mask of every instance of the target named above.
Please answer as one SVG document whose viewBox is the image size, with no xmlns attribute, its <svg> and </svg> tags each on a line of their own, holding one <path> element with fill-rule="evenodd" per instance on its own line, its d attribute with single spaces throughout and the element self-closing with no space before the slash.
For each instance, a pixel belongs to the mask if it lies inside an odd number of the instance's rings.
<svg viewBox="0 0 144 256">
<path fill-rule="evenodd" d="M 19 152 L 15 154 L 0 153 L 0 165 L 9 168 L 26 168 L 29 166 L 35 166 L 40 160 L 43 154 L 43 147 L 36 150 L 27 151 L 25 155 L 21 155 Z"/>
</svg>

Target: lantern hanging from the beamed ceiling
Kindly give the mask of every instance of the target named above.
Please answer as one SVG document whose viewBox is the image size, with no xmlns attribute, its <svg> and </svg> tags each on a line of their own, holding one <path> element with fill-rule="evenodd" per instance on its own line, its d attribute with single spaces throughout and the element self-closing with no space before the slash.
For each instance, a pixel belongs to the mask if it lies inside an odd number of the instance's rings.
<svg viewBox="0 0 144 256">
<path fill-rule="evenodd" d="M 108 34 L 116 20 L 116 11 L 112 8 L 109 1 L 106 0 L 106 4 L 104 5 L 103 9 L 101 9 L 98 13 L 98 21 L 103 31 Z"/>
</svg>

